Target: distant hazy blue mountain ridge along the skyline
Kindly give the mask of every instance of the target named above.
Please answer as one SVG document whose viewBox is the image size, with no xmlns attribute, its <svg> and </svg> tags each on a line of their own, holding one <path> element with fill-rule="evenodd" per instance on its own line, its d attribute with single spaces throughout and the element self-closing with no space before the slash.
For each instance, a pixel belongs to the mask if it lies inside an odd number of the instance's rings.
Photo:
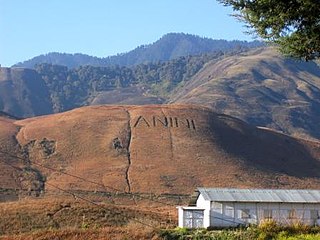
<svg viewBox="0 0 320 240">
<path fill-rule="evenodd" d="M 168 61 L 181 56 L 194 56 L 202 53 L 213 53 L 217 51 L 226 53 L 234 51 L 235 49 L 243 50 L 262 45 L 263 44 L 259 41 L 246 42 L 238 40 L 213 40 L 191 34 L 169 33 L 152 44 L 142 45 L 130 52 L 115 56 L 98 58 L 80 53 L 67 54 L 54 52 L 17 63 L 14 65 L 14 67 L 34 68 L 36 64 L 41 63 L 63 65 L 69 68 L 75 68 L 81 65 L 133 66 L 147 62 Z"/>
</svg>

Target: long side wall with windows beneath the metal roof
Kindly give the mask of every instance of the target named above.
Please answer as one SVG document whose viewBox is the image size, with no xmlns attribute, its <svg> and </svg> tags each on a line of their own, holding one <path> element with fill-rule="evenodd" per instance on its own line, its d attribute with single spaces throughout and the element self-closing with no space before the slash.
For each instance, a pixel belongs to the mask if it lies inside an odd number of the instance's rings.
<svg viewBox="0 0 320 240">
<path fill-rule="evenodd" d="M 200 204 L 207 206 L 203 201 Z M 269 218 L 284 225 L 315 225 L 319 222 L 320 204 L 211 202 L 208 214 L 208 226 L 216 227 L 259 224 Z"/>
</svg>

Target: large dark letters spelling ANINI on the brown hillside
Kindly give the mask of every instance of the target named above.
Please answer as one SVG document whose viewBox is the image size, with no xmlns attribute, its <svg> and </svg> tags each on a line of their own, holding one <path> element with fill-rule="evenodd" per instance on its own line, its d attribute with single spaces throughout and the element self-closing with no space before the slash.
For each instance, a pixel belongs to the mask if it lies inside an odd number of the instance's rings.
<svg viewBox="0 0 320 240">
<path fill-rule="evenodd" d="M 177 118 L 168 116 L 153 116 L 152 118 L 146 118 L 139 116 L 134 120 L 133 127 L 171 127 L 171 128 L 188 128 L 191 130 L 196 130 L 196 124 L 193 119 L 188 118 Z"/>
</svg>

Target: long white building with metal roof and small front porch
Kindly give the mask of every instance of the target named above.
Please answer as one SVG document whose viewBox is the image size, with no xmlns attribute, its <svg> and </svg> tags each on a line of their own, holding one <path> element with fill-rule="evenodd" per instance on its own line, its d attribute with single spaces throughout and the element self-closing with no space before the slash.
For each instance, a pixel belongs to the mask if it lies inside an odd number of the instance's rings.
<svg viewBox="0 0 320 240">
<path fill-rule="evenodd" d="M 320 190 L 198 188 L 192 205 L 178 207 L 179 227 L 234 227 L 274 220 L 320 225 Z"/>
</svg>

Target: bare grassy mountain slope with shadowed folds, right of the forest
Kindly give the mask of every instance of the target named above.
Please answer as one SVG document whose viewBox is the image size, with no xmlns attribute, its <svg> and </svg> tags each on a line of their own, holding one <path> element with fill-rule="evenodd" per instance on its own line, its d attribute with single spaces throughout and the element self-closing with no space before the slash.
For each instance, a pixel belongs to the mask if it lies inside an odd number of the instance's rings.
<svg viewBox="0 0 320 240">
<path fill-rule="evenodd" d="M 208 63 L 171 102 L 200 104 L 257 126 L 320 138 L 320 68 L 271 48 Z"/>
</svg>

